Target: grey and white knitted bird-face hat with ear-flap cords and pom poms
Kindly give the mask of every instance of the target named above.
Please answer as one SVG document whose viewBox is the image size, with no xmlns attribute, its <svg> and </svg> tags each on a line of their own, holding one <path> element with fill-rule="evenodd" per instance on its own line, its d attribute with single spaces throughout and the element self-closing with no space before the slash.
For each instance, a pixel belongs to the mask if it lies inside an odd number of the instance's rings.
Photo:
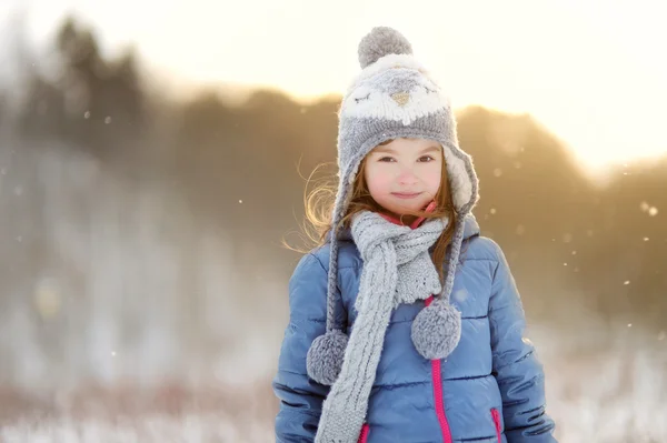
<svg viewBox="0 0 667 443">
<path fill-rule="evenodd" d="M 458 222 L 442 292 L 412 323 L 412 342 L 429 360 L 446 358 L 460 338 L 460 313 L 449 304 L 454 275 L 464 239 L 466 215 L 477 202 L 478 182 L 472 160 L 458 145 L 451 104 L 426 69 L 412 57 L 410 42 L 398 31 L 374 28 L 359 43 L 362 71 L 342 99 L 338 128 L 338 193 L 331 220 L 331 249 L 327 291 L 327 332 L 318 336 L 307 356 L 308 374 L 331 385 L 342 366 L 348 338 L 336 323 L 338 240 L 361 160 L 378 144 L 398 138 L 421 138 L 444 148 Z"/>
</svg>

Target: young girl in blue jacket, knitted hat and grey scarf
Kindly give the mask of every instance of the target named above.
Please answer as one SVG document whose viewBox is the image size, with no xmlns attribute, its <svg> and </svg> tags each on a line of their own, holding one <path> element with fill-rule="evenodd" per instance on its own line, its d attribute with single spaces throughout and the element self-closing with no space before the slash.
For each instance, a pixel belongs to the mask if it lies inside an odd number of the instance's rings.
<svg viewBox="0 0 667 443">
<path fill-rule="evenodd" d="M 329 229 L 289 283 L 277 442 L 556 442 L 450 103 L 390 28 L 359 60 Z"/>
</svg>

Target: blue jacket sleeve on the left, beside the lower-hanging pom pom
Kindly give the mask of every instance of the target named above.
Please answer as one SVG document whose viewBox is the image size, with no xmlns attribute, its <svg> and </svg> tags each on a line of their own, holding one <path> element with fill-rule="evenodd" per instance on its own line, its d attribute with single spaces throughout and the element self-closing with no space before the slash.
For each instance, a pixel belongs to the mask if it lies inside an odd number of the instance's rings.
<svg viewBox="0 0 667 443">
<path fill-rule="evenodd" d="M 311 380 L 306 372 L 308 349 L 325 333 L 327 319 L 327 272 L 312 254 L 301 259 L 289 281 L 289 311 L 278 373 L 272 382 L 280 400 L 276 442 L 311 443 L 330 389 Z"/>
</svg>

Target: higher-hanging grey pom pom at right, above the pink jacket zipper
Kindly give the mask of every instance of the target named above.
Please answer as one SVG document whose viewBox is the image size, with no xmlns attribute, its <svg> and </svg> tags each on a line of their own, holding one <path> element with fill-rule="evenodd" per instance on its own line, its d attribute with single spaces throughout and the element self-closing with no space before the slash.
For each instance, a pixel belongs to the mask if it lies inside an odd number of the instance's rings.
<svg viewBox="0 0 667 443">
<path fill-rule="evenodd" d="M 461 339 L 461 313 L 447 301 L 436 299 L 417 314 L 411 335 L 425 359 L 445 359 Z"/>
</svg>

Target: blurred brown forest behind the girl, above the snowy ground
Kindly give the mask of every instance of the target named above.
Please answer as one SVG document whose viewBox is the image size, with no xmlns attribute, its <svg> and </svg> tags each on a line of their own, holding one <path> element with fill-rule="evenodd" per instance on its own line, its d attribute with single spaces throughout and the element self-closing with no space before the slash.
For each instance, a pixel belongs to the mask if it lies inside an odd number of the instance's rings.
<svg viewBox="0 0 667 443">
<path fill-rule="evenodd" d="M 302 222 L 303 177 L 335 161 L 340 99 L 178 101 L 132 49 L 102 57 L 73 18 L 49 59 L 13 48 L 19 74 L 0 84 L 0 385 L 268 380 L 299 259 L 281 240 Z M 595 316 L 664 338 L 667 159 L 596 183 L 530 115 L 458 118 L 476 217 L 529 323 L 586 334 Z"/>
</svg>

